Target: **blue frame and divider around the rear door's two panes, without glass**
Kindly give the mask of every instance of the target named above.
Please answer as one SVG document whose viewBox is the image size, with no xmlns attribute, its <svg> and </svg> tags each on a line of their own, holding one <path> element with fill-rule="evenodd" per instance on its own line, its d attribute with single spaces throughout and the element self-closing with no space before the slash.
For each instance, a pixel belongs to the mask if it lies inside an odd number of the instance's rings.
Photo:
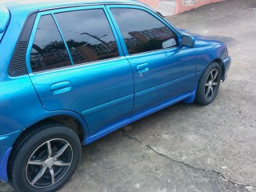
<svg viewBox="0 0 256 192">
<path fill-rule="evenodd" d="M 70 56 L 70 63 L 74 63 L 73 59 L 71 57 L 71 54 L 70 54 L 70 50 L 68 49 L 68 46 L 66 45 L 66 40 L 65 40 L 65 38 L 64 38 L 64 36 L 63 36 L 63 34 L 61 32 L 60 27 L 58 26 L 58 21 L 54 17 L 54 14 L 70 12 L 70 11 L 95 10 L 95 9 L 102 9 L 104 11 L 104 14 L 106 15 L 106 19 L 107 19 L 107 21 L 110 24 L 110 30 L 112 31 L 112 33 L 114 35 L 114 40 L 117 43 L 119 56 L 118 57 L 114 57 L 114 58 L 106 58 L 106 59 L 102 59 L 102 60 L 98 60 L 98 61 L 93 61 L 93 62 L 83 62 L 83 63 L 75 64 L 75 65 L 70 64 L 70 66 L 62 66 L 62 67 L 58 67 L 58 68 L 54 68 L 54 69 L 50 69 L 50 70 L 40 70 L 40 71 L 37 71 L 37 72 L 33 72 L 32 71 L 32 67 L 30 66 L 30 52 L 31 52 L 31 49 L 32 49 L 32 46 L 33 46 L 33 42 L 34 42 L 34 38 L 35 38 L 35 35 L 36 35 L 36 31 L 38 29 L 38 24 L 39 24 L 40 18 L 43 15 L 51 14 L 51 16 L 54 18 L 54 23 L 55 23 L 55 25 L 58 28 L 58 32 L 59 32 L 59 34 L 62 37 L 62 41 L 64 42 L 64 45 L 66 46 L 66 51 L 67 51 L 68 55 Z M 31 35 L 30 35 L 30 39 L 29 39 L 29 42 L 28 42 L 27 49 L 26 49 L 26 69 L 28 71 L 28 74 L 40 74 L 40 73 L 44 73 L 44 72 L 47 72 L 47 71 L 62 70 L 62 69 L 66 69 L 66 68 L 70 68 L 70 67 L 75 67 L 75 66 L 80 66 L 80 67 L 81 66 L 89 66 L 89 65 L 91 66 L 91 65 L 95 65 L 95 63 L 97 63 L 97 62 L 104 62 L 104 61 L 106 62 L 106 61 L 110 61 L 112 59 L 122 58 L 123 56 L 124 56 L 124 53 L 123 53 L 123 50 L 122 50 L 121 42 L 120 42 L 120 40 L 118 38 L 117 31 L 114 28 L 114 23 L 111 21 L 110 15 L 108 14 L 108 12 L 106 10 L 106 6 L 104 6 L 104 5 L 99 5 L 99 6 L 78 6 L 78 7 L 76 6 L 76 7 L 57 9 L 57 10 L 47 10 L 47 11 L 40 11 L 40 12 L 38 12 L 38 14 L 37 14 L 37 16 L 36 16 L 36 18 L 34 20 L 34 26 L 32 28 L 32 32 L 31 32 Z"/>
</svg>

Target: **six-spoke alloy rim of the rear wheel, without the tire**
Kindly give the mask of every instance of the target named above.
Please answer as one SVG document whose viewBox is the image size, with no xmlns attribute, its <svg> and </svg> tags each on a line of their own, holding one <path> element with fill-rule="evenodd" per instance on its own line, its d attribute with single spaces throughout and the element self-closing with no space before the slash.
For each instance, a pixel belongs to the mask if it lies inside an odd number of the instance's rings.
<svg viewBox="0 0 256 192">
<path fill-rule="evenodd" d="M 61 138 L 42 143 L 34 150 L 26 164 L 26 179 L 31 186 L 46 188 L 58 182 L 69 170 L 73 150 Z"/>
</svg>

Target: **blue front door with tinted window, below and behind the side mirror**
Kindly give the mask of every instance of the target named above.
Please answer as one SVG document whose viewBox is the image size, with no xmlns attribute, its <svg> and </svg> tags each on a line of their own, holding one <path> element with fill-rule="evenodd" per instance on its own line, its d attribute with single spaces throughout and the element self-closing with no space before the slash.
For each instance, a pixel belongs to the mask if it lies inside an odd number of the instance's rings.
<svg viewBox="0 0 256 192">
<path fill-rule="evenodd" d="M 134 114 L 194 90 L 195 54 L 165 19 L 141 6 L 107 6 L 134 73 Z"/>
</svg>

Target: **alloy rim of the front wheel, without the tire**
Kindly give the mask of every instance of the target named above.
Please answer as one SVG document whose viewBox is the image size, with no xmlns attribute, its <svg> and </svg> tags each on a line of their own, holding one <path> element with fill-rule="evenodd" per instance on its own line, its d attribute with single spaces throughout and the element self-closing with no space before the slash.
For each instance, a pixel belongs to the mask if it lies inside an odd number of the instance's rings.
<svg viewBox="0 0 256 192">
<path fill-rule="evenodd" d="M 218 70 L 214 69 L 210 71 L 210 74 L 206 78 L 206 83 L 205 83 L 205 97 L 207 99 L 210 99 L 214 96 L 215 91 L 217 90 L 218 87 Z"/>
</svg>

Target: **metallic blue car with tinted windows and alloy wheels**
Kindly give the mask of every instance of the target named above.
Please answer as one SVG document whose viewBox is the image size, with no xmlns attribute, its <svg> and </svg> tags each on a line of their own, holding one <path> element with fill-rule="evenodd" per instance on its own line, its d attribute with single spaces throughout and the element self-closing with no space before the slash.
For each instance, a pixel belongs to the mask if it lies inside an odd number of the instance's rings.
<svg viewBox="0 0 256 192">
<path fill-rule="evenodd" d="M 0 5 L 0 180 L 55 191 L 81 146 L 176 102 L 208 105 L 226 44 L 131 0 Z"/>
</svg>

